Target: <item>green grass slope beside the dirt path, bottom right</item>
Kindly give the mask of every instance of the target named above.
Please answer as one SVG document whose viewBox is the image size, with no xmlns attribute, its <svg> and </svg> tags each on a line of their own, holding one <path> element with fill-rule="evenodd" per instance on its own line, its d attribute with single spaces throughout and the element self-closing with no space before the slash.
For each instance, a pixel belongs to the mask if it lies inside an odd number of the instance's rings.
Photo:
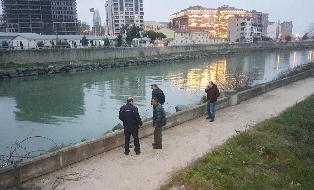
<svg viewBox="0 0 314 190">
<path fill-rule="evenodd" d="M 238 133 L 161 189 L 314 189 L 314 95 Z"/>
</svg>

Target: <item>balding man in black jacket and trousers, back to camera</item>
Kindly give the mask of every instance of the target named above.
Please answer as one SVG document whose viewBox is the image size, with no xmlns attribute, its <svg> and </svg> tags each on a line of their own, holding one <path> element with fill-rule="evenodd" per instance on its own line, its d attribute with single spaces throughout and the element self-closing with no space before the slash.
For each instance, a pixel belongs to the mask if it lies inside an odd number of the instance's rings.
<svg viewBox="0 0 314 190">
<path fill-rule="evenodd" d="M 133 106 L 134 99 L 127 98 L 127 104 L 121 106 L 119 112 L 119 119 L 122 121 L 124 126 L 124 154 L 129 155 L 129 143 L 130 137 L 134 139 L 134 150 L 136 155 L 139 155 L 139 140 L 138 140 L 138 126 L 142 126 L 141 116 L 139 116 L 138 108 Z"/>
</svg>

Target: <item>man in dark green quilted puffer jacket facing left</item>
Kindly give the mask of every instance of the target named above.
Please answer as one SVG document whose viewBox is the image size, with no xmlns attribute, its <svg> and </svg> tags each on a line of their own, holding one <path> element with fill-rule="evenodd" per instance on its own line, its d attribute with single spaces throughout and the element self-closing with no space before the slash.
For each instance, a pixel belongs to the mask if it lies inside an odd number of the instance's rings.
<svg viewBox="0 0 314 190">
<path fill-rule="evenodd" d="M 153 126 L 154 130 L 154 149 L 162 149 L 161 146 L 161 128 L 167 124 L 166 113 L 157 98 L 152 98 L 151 104 L 154 106 L 153 111 Z"/>
</svg>

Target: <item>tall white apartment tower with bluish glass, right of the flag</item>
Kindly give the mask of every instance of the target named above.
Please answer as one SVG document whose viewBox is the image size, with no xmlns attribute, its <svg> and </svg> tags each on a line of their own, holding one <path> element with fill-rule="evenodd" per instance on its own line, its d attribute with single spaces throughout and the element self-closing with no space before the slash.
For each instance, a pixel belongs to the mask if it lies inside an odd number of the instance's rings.
<svg viewBox="0 0 314 190">
<path fill-rule="evenodd" d="M 109 0 L 106 1 L 105 8 L 108 35 L 119 35 L 119 28 L 123 26 L 129 28 L 136 25 L 144 29 L 143 0 Z"/>
</svg>

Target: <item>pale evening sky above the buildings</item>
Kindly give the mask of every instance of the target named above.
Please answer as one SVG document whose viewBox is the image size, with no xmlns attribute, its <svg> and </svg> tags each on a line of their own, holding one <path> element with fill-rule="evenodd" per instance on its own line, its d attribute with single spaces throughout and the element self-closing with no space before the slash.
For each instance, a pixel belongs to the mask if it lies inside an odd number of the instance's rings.
<svg viewBox="0 0 314 190">
<path fill-rule="evenodd" d="M 222 5 L 269 13 L 271 22 L 292 21 L 293 32 L 303 35 L 314 21 L 314 0 L 143 0 L 144 21 L 169 22 L 170 15 L 190 6 L 200 5 L 218 8 Z M 93 13 L 89 8 L 98 8 L 102 24 L 106 16 L 105 0 L 77 0 L 78 19 L 92 26 Z"/>
</svg>

